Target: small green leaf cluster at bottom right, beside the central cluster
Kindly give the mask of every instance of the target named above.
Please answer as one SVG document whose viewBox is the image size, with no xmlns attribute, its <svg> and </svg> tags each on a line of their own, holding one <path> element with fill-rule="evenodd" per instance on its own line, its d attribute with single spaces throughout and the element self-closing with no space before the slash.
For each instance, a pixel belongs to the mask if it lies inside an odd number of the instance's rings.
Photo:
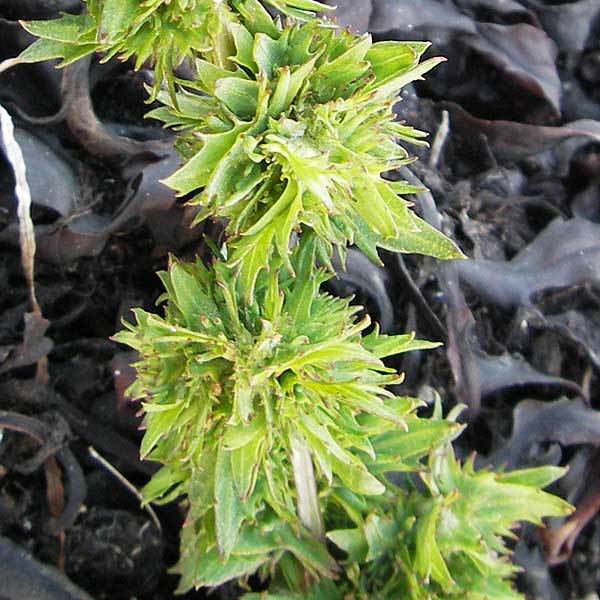
<svg viewBox="0 0 600 600">
<path fill-rule="evenodd" d="M 377 502 L 358 528 L 331 531 L 348 555 L 352 598 L 518 600 L 516 572 L 504 538 L 518 521 L 568 514 L 571 507 L 540 491 L 563 469 L 540 467 L 509 474 L 461 466 L 452 447 L 432 453 L 422 474 L 426 489 L 397 489 Z M 343 597 L 343 594 L 340 594 Z"/>
</svg>

